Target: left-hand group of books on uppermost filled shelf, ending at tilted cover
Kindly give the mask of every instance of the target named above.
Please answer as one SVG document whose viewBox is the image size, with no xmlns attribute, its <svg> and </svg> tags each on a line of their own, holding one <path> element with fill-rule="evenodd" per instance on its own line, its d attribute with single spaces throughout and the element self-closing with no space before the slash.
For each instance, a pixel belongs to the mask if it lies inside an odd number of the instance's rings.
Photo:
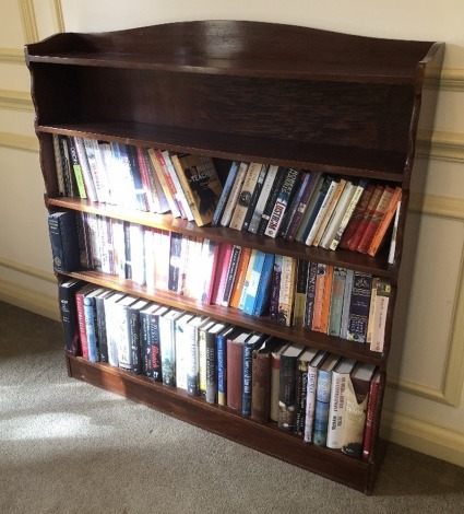
<svg viewBox="0 0 464 514">
<path fill-rule="evenodd" d="M 223 190 L 209 156 L 53 135 L 58 189 L 145 212 L 212 221 Z"/>
</svg>

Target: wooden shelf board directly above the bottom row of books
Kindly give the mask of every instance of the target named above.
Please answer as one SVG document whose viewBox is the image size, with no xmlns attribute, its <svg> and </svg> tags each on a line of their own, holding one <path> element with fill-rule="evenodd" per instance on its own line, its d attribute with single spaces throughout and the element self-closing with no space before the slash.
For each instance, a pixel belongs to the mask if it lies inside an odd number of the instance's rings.
<svg viewBox="0 0 464 514">
<path fill-rule="evenodd" d="M 219 305 L 209 305 L 199 300 L 176 294 L 170 291 L 148 290 L 145 285 L 140 285 L 131 280 L 122 280 L 112 274 L 102 273 L 94 270 L 81 270 L 62 273 L 96 285 L 133 294 L 146 300 L 158 302 L 169 307 L 180 308 L 202 316 L 211 316 L 218 322 L 237 325 L 250 330 L 267 334 L 297 343 L 314 347 L 320 350 L 335 352 L 343 357 L 348 357 L 364 362 L 370 362 L 383 369 L 386 359 L 383 353 L 370 351 L 368 344 L 361 344 L 346 339 L 341 339 L 326 334 L 310 330 L 301 327 L 286 327 L 265 316 L 257 317 L 242 313 L 233 307 Z"/>
</svg>

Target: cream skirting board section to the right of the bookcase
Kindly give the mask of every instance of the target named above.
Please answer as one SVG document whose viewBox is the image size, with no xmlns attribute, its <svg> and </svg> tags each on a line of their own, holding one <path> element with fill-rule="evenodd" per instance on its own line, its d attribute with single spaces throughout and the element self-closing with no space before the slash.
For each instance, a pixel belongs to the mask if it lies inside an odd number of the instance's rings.
<svg viewBox="0 0 464 514">
<path fill-rule="evenodd" d="M 464 467 L 464 433 L 384 409 L 382 437 Z"/>
</svg>

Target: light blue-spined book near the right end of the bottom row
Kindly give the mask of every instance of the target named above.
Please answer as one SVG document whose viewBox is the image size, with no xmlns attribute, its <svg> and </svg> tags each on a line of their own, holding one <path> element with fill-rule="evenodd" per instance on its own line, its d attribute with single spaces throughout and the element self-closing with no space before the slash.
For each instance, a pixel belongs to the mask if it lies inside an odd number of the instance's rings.
<svg viewBox="0 0 464 514">
<path fill-rule="evenodd" d="M 337 365 L 338 361 L 338 355 L 330 353 L 318 367 L 312 431 L 312 442 L 318 446 L 325 446 L 328 440 L 329 410 L 332 392 L 332 372 Z"/>
</svg>

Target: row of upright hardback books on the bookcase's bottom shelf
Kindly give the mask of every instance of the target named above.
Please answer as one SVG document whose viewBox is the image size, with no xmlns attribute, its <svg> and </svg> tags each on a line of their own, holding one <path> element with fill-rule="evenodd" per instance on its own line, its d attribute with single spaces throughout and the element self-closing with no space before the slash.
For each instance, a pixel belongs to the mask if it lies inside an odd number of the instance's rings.
<svg viewBox="0 0 464 514">
<path fill-rule="evenodd" d="M 373 364 L 79 280 L 61 283 L 59 296 L 69 353 L 276 421 L 308 443 L 356 457 L 365 447 L 369 457 Z"/>
</svg>

